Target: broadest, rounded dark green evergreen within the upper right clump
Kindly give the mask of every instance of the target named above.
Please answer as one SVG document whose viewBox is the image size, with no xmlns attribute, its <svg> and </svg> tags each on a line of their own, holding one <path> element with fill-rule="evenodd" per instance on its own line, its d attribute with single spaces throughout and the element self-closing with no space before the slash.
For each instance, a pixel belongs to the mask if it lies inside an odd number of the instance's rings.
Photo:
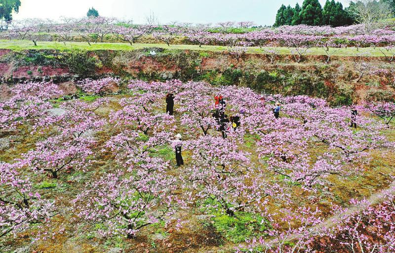
<svg viewBox="0 0 395 253">
<path fill-rule="evenodd" d="M 322 23 L 322 7 L 318 0 L 304 0 L 300 12 L 301 24 L 319 26 Z"/>
</svg>

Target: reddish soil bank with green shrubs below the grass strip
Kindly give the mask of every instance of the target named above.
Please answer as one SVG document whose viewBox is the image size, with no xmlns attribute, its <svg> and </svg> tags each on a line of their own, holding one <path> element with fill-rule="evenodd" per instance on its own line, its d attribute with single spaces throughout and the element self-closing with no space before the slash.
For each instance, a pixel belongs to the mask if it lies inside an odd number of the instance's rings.
<svg viewBox="0 0 395 253">
<path fill-rule="evenodd" d="M 155 51 L 155 55 L 151 52 Z M 133 51 L 0 50 L 0 83 L 50 81 L 116 75 L 127 79 L 207 81 L 244 85 L 267 93 L 325 97 L 333 104 L 394 98 L 392 66 L 385 57 L 293 55 L 145 48 Z M 367 64 L 367 66 L 365 65 Z M 372 70 L 388 70 L 373 72 Z M 362 77 L 361 77 L 362 76 Z"/>
</svg>

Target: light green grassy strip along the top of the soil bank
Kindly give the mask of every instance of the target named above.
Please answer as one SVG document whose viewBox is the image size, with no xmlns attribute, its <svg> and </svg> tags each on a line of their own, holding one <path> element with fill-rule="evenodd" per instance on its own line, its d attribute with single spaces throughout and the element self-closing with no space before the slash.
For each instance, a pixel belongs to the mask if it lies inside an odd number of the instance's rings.
<svg viewBox="0 0 395 253">
<path fill-rule="evenodd" d="M 167 49 L 180 49 L 180 50 L 206 50 L 213 52 L 223 52 L 228 48 L 225 46 L 211 46 L 211 45 L 170 45 L 166 44 L 133 44 L 128 43 L 91 43 L 88 45 L 86 42 L 67 42 L 64 45 L 62 42 L 38 42 L 35 46 L 31 41 L 8 41 L 0 40 L 0 49 L 12 49 L 15 51 L 27 50 L 27 49 L 58 49 L 58 50 L 71 50 L 71 49 L 84 49 L 84 50 L 135 50 L 146 47 L 162 47 Z M 291 54 L 292 48 L 289 47 L 278 47 L 280 54 Z M 331 49 L 334 50 L 334 49 Z M 336 49 L 337 50 L 337 49 Z M 384 49 L 385 50 L 385 49 Z M 259 47 L 248 47 L 248 53 L 263 53 Z M 369 53 L 367 56 L 384 56 L 379 48 L 367 47 L 359 48 L 359 51 L 355 47 L 343 48 L 336 51 L 333 55 L 335 56 L 355 56 L 357 53 Z M 395 50 L 388 52 L 388 55 L 395 53 Z M 308 55 L 326 55 L 322 48 L 311 48 Z"/>
</svg>

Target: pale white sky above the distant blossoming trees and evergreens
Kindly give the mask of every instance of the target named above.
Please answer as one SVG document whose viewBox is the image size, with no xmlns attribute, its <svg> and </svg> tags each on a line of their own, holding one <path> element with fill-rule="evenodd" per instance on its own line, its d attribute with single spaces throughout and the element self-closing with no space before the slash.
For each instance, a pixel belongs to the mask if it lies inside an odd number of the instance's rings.
<svg viewBox="0 0 395 253">
<path fill-rule="evenodd" d="M 326 0 L 319 0 L 322 7 Z M 15 19 L 82 17 L 89 7 L 102 16 L 133 19 L 144 23 L 154 12 L 160 23 L 171 21 L 217 23 L 221 21 L 254 21 L 258 25 L 272 25 L 281 4 L 303 0 L 21 0 Z M 348 6 L 348 0 L 340 0 Z"/>
</svg>

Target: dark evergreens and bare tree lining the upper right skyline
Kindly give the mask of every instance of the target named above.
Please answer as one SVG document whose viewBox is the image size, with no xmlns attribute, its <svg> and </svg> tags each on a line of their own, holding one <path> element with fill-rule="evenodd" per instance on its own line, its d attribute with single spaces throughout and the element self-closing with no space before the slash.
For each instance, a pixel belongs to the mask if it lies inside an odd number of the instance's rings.
<svg viewBox="0 0 395 253">
<path fill-rule="evenodd" d="M 284 4 L 278 9 L 274 27 L 283 25 L 310 25 L 320 26 L 329 25 L 332 27 L 347 26 L 355 23 L 362 23 L 358 17 L 359 11 L 356 9 L 363 8 L 369 12 L 373 9 L 389 9 L 393 13 L 395 9 L 395 0 L 358 0 L 351 1 L 350 6 L 343 8 L 339 1 L 326 0 L 324 7 L 318 0 L 304 0 L 302 7 L 296 3 L 295 7 Z M 381 11 L 382 12 L 382 11 Z"/>
</svg>

